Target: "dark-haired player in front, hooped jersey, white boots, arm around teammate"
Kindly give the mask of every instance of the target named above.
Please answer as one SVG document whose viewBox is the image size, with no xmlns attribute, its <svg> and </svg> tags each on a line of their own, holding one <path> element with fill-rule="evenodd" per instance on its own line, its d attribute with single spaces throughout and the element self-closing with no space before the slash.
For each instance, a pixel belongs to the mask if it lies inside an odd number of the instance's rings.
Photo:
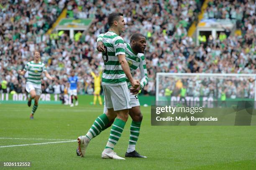
<svg viewBox="0 0 256 170">
<path fill-rule="evenodd" d="M 125 60 L 125 44 L 123 38 L 118 36 L 125 31 L 125 21 L 123 14 L 112 13 L 108 16 L 110 29 L 102 38 L 105 52 L 102 53 L 105 70 L 102 75 L 102 87 L 105 94 L 105 105 L 107 114 L 101 114 L 94 122 L 89 132 L 85 136 L 78 137 L 79 154 L 83 157 L 86 147 L 96 133 L 100 133 L 113 117 L 116 117 L 111 127 L 110 137 L 101 157 L 110 159 L 125 160 L 119 157 L 114 151 L 114 147 L 121 137 L 123 128 L 128 119 L 129 109 L 131 109 L 130 96 L 127 88 L 126 77 L 131 82 L 131 86 L 136 89 L 140 85 L 138 80 L 134 80 L 129 65 Z M 116 111 L 116 112 L 114 112 Z M 117 115 L 116 115 L 117 114 Z"/>
</svg>

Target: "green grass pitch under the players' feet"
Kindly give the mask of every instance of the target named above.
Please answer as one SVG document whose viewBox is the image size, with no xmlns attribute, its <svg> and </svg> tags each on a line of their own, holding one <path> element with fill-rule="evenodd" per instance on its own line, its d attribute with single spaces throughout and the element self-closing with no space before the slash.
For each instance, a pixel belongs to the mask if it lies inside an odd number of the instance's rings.
<svg viewBox="0 0 256 170">
<path fill-rule="evenodd" d="M 0 104 L 0 137 L 76 140 L 103 110 L 85 104 L 73 108 L 41 104 L 30 120 L 31 109 L 26 104 Z M 0 162 L 31 162 L 28 169 L 256 169 L 255 126 L 151 126 L 150 107 L 141 110 L 143 123 L 136 150 L 147 159 L 102 159 L 107 129 L 90 142 L 84 158 L 77 157 L 76 142 L 66 142 L 2 147 Z M 120 156 L 128 146 L 130 123 L 131 118 L 115 146 Z M 0 146 L 56 141 L 0 139 Z"/>
</svg>

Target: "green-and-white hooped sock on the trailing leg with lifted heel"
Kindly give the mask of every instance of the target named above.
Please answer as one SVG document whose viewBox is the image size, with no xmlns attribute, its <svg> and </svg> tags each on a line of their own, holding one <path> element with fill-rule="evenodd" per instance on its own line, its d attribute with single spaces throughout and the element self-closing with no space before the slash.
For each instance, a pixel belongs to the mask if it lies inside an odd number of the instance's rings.
<svg viewBox="0 0 256 170">
<path fill-rule="evenodd" d="M 87 136 L 90 140 L 100 134 L 105 130 L 105 126 L 109 123 L 108 117 L 106 114 L 101 114 L 92 124 L 92 127 L 89 129 Z"/>
</svg>

